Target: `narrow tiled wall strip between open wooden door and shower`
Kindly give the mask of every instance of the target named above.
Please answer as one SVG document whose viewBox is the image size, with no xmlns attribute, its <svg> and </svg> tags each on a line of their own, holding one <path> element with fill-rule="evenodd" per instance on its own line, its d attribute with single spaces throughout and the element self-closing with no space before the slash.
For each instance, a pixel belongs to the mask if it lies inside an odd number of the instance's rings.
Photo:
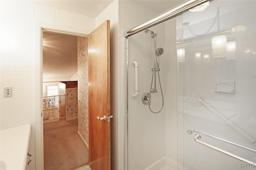
<svg viewBox="0 0 256 170">
<path fill-rule="evenodd" d="M 96 27 L 110 20 L 111 170 L 122 169 L 118 168 L 118 3 L 118 0 L 114 0 L 95 18 Z"/>
</svg>

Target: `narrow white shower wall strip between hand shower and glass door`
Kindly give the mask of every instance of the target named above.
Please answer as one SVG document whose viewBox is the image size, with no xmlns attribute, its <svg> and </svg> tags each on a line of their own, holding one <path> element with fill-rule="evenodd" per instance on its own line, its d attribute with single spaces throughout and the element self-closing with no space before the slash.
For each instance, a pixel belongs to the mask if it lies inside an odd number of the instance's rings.
<svg viewBox="0 0 256 170">
<path fill-rule="evenodd" d="M 166 81 L 166 156 L 177 168 L 177 76 L 176 76 L 176 18 L 165 22 L 165 72 Z"/>
</svg>

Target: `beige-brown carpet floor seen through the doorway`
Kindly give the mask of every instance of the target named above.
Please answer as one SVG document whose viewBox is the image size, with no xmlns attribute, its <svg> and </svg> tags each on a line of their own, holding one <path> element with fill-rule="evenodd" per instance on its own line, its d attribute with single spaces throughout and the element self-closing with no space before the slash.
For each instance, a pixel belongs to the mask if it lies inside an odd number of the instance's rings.
<svg viewBox="0 0 256 170">
<path fill-rule="evenodd" d="M 77 130 L 77 119 L 44 124 L 44 170 L 71 170 L 89 162 Z"/>
</svg>

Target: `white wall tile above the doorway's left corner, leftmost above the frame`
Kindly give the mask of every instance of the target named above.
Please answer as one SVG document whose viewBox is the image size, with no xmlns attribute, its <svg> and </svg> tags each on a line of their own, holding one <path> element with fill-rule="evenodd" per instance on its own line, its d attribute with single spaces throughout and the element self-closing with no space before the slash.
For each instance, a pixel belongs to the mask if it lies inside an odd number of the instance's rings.
<svg viewBox="0 0 256 170">
<path fill-rule="evenodd" d="M 41 6 L 36 4 L 35 6 L 35 19 L 36 21 L 42 21 L 46 23 L 55 24 L 56 11 L 55 8 L 49 6 Z"/>
</svg>

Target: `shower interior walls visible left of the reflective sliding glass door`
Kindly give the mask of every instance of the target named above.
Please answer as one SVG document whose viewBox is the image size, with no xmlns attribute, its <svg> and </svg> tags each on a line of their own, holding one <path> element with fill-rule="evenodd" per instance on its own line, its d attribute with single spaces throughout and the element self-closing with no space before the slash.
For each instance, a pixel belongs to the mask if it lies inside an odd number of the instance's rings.
<svg viewBox="0 0 256 170">
<path fill-rule="evenodd" d="M 156 48 L 154 36 L 150 31 L 147 33 L 142 31 L 128 37 L 126 48 L 128 49 L 129 170 L 171 170 L 176 169 L 177 166 L 175 22 L 176 20 L 172 19 L 150 28 L 154 34 L 157 33 Z M 154 56 L 156 56 L 156 66 L 154 66 Z M 132 65 L 132 61 L 138 63 L 139 91 L 138 96 L 133 98 L 136 67 Z M 156 75 L 152 71 L 153 67 Z M 150 99 L 144 100 L 145 95 L 142 96 L 145 93 L 146 96 L 147 93 L 150 94 Z M 142 100 L 150 103 L 150 107 L 148 104 L 144 105 Z"/>
</svg>

